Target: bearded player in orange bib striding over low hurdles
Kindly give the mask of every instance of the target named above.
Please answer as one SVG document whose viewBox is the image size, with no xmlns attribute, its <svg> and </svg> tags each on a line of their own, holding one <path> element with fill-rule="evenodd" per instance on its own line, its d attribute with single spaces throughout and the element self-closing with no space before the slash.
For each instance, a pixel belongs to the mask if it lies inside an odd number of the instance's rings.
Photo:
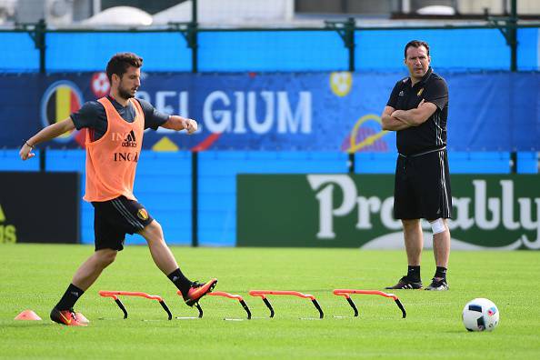
<svg viewBox="0 0 540 360">
<path fill-rule="evenodd" d="M 155 265 L 182 292 L 185 304 L 195 305 L 217 284 L 190 281 L 180 271 L 175 256 L 165 244 L 161 225 L 137 202 L 133 194 L 135 169 L 146 128 L 158 126 L 193 134 L 195 120 L 164 115 L 144 100 L 135 99 L 141 85 L 143 59 L 132 53 L 114 55 L 106 73 L 111 92 L 85 103 L 65 120 L 49 125 L 25 141 L 19 155 L 33 157 L 34 147 L 67 131 L 86 128 L 86 187 L 84 199 L 94 205 L 95 253 L 75 272 L 71 284 L 51 311 L 51 319 L 63 325 L 84 325 L 77 321 L 75 302 L 94 284 L 119 251 L 125 234 L 145 237 Z"/>
</svg>

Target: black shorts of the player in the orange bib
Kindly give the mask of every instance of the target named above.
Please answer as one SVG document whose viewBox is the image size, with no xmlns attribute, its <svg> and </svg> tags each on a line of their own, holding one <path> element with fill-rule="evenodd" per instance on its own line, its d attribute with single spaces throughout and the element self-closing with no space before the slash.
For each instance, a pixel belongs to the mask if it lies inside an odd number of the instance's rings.
<svg viewBox="0 0 540 360">
<path fill-rule="evenodd" d="M 134 234 L 152 223 L 145 207 L 125 196 L 92 202 L 94 205 L 95 251 L 124 249 L 125 234 Z"/>
</svg>

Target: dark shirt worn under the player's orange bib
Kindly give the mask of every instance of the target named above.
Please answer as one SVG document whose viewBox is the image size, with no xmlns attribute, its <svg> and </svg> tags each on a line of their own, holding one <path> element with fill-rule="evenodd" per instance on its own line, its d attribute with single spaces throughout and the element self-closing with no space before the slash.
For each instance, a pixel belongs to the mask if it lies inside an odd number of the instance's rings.
<svg viewBox="0 0 540 360">
<path fill-rule="evenodd" d="M 131 105 L 131 103 L 128 103 L 127 106 L 123 106 L 111 96 L 107 96 L 107 99 L 111 101 L 118 114 L 126 122 L 133 123 L 135 120 L 135 107 Z M 143 114 L 145 115 L 145 129 L 152 128 L 156 130 L 158 126 L 165 124 L 169 119 L 169 115 L 160 113 L 147 101 L 136 98 L 135 100 L 138 101 L 143 108 Z M 107 115 L 105 113 L 105 107 L 97 101 L 86 102 L 78 111 L 71 115 L 71 118 L 77 130 L 84 127 L 94 130 L 92 141 L 98 140 L 101 136 L 105 135 L 107 131 Z"/>
</svg>

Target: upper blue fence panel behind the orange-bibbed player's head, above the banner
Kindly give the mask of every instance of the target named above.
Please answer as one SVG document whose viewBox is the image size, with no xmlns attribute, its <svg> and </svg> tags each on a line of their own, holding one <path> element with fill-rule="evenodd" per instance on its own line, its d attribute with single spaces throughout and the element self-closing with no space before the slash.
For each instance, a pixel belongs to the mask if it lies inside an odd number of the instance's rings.
<svg viewBox="0 0 540 360">
<path fill-rule="evenodd" d="M 180 33 L 49 33 L 49 72 L 105 71 L 115 53 L 133 52 L 144 71 L 190 71 L 191 49 Z"/>
</svg>

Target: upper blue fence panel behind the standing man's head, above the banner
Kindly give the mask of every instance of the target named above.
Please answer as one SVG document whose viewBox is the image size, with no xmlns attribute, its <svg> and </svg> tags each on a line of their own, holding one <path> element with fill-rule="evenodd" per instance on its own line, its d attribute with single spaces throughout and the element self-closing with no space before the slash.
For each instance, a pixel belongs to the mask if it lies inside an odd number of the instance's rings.
<svg viewBox="0 0 540 360">
<path fill-rule="evenodd" d="M 510 50 L 497 29 L 365 30 L 355 32 L 356 70 L 404 68 L 405 45 L 424 40 L 435 70 L 508 70 Z M 464 52 L 474 49 L 474 55 Z"/>
</svg>

